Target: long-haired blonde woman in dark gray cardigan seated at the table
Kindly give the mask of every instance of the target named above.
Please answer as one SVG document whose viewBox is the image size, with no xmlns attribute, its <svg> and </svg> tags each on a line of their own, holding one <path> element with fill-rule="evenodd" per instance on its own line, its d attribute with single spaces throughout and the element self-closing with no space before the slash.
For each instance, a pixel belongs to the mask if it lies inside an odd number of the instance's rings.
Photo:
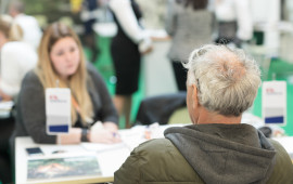
<svg viewBox="0 0 293 184">
<path fill-rule="evenodd" d="M 29 135 L 36 143 L 114 143 L 118 115 L 102 77 L 87 65 L 77 35 L 61 23 L 47 28 L 39 47 L 37 67 L 23 81 L 16 130 L 12 136 Z M 44 90 L 68 88 L 72 92 L 72 129 L 68 134 L 46 133 Z M 101 121 L 95 123 L 97 121 Z"/>
</svg>

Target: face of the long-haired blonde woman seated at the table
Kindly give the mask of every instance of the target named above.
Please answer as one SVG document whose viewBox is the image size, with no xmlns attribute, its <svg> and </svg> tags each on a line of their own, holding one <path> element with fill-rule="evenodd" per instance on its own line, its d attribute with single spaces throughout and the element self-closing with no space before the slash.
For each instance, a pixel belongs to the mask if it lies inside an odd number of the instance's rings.
<svg viewBox="0 0 293 184">
<path fill-rule="evenodd" d="M 63 79 L 74 75 L 80 62 L 80 53 L 76 41 L 71 37 L 58 40 L 50 52 L 53 67 Z"/>
</svg>

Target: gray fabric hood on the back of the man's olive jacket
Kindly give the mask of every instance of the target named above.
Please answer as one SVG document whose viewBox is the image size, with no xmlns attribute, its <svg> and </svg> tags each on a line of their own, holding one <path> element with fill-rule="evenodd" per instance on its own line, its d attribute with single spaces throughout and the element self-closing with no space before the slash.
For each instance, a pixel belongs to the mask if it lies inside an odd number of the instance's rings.
<svg viewBox="0 0 293 184">
<path fill-rule="evenodd" d="M 205 183 L 265 183 L 275 165 L 275 148 L 250 124 L 192 124 L 164 134 Z"/>
</svg>

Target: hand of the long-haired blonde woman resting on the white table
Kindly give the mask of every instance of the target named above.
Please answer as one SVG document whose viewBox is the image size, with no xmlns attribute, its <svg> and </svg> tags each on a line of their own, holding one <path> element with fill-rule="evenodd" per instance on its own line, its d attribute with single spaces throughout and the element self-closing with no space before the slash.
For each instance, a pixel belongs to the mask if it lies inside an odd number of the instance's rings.
<svg viewBox="0 0 293 184">
<path fill-rule="evenodd" d="M 118 127 L 113 122 L 95 122 L 89 131 L 89 142 L 113 144 L 120 142 Z"/>
</svg>

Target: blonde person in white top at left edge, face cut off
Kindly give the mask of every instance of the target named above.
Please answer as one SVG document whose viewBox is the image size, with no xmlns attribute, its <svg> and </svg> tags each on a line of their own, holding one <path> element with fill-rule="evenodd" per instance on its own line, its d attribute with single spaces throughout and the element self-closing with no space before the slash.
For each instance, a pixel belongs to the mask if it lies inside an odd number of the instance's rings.
<svg viewBox="0 0 293 184">
<path fill-rule="evenodd" d="M 0 16 L 0 97 L 10 101 L 21 89 L 25 74 L 35 67 L 37 53 L 20 41 L 23 31 L 8 15 Z"/>
</svg>

